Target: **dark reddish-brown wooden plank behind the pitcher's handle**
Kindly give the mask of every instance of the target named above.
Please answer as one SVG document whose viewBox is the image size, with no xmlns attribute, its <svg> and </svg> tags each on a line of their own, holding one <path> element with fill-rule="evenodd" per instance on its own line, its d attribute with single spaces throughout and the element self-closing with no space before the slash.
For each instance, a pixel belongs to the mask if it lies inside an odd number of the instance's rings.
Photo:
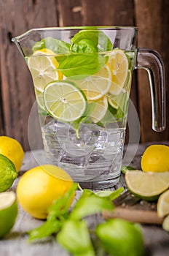
<svg viewBox="0 0 169 256">
<path fill-rule="evenodd" d="M 165 48 L 163 47 L 163 35 L 168 34 L 169 29 L 167 20 L 165 20 L 165 27 L 163 26 L 163 17 L 167 18 L 168 16 L 167 6 L 163 6 L 163 2 L 161 0 L 135 0 L 135 22 L 139 29 L 138 46 L 157 50 L 161 53 L 162 58 L 165 57 L 165 53 L 167 53 L 167 56 L 169 54 L 167 45 L 165 45 Z M 167 1 L 165 1 L 165 5 L 167 5 Z M 168 81 L 166 84 L 168 86 Z M 138 70 L 138 100 L 141 140 L 143 142 L 168 140 L 168 129 L 162 133 L 152 130 L 152 103 L 149 91 L 149 79 L 145 70 Z"/>
</svg>

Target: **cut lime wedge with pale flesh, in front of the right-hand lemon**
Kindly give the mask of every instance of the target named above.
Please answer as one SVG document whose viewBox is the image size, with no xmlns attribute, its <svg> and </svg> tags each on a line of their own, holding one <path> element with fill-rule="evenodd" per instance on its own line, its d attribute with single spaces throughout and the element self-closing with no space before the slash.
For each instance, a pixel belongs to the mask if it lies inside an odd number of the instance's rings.
<svg viewBox="0 0 169 256">
<path fill-rule="evenodd" d="M 141 170 L 130 170 L 125 173 L 127 187 L 134 195 L 144 200 L 157 200 L 169 187 L 169 172 L 152 173 Z"/>
</svg>

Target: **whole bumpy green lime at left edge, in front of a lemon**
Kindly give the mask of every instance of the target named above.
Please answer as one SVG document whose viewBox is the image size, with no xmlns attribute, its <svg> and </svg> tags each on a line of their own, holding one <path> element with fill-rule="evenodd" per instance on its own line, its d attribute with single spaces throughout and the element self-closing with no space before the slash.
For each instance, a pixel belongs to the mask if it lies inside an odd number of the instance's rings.
<svg viewBox="0 0 169 256">
<path fill-rule="evenodd" d="M 15 165 L 9 158 L 0 154 L 0 192 L 9 189 L 17 178 Z"/>
</svg>

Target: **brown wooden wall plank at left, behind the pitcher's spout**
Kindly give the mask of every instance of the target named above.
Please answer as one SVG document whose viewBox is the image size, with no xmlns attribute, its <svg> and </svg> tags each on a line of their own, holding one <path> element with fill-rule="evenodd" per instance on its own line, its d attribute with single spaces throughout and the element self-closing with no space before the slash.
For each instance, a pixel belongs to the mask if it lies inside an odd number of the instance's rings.
<svg viewBox="0 0 169 256">
<path fill-rule="evenodd" d="M 28 116 L 35 101 L 33 83 L 22 56 L 11 42 L 33 27 L 58 25 L 54 0 L 0 1 L 1 97 L 4 106 L 4 133 L 29 148 Z M 34 144 L 39 148 L 41 134 L 34 127 Z M 40 143 L 41 145 L 41 143 Z"/>
</svg>

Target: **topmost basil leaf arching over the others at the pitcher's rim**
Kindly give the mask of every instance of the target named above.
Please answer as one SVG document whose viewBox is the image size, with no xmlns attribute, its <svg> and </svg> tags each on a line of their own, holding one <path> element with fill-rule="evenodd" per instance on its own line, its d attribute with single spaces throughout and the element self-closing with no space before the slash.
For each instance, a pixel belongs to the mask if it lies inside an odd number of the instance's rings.
<svg viewBox="0 0 169 256">
<path fill-rule="evenodd" d="M 74 44 L 79 43 L 82 39 L 90 39 L 93 46 L 98 48 L 98 52 L 112 50 L 112 43 L 109 37 L 101 30 L 81 30 L 71 38 L 71 49 Z"/>
</svg>

